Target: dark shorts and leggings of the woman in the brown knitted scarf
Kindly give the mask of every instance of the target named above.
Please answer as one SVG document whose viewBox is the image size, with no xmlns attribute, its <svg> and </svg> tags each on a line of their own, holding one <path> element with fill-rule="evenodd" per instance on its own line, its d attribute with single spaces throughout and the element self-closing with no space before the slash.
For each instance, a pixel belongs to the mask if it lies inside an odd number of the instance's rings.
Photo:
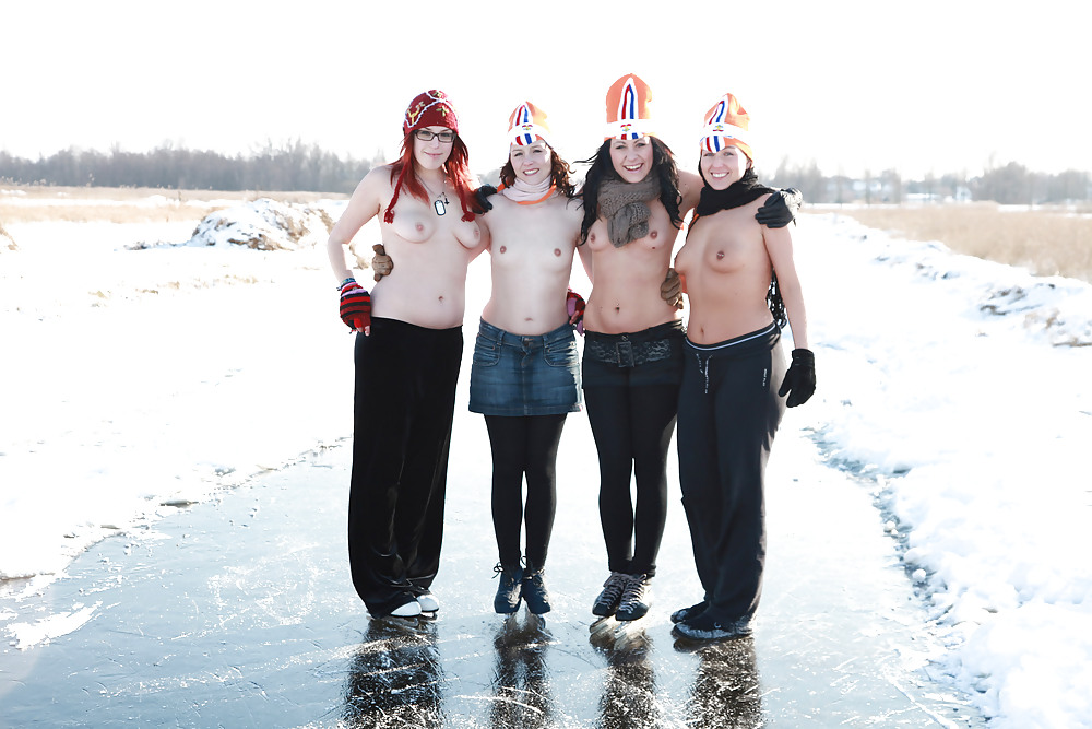
<svg viewBox="0 0 1092 729">
<path fill-rule="evenodd" d="M 600 458 L 607 567 L 652 577 L 667 521 L 667 448 L 682 376 L 681 325 L 586 337 L 582 379 Z"/>
</svg>

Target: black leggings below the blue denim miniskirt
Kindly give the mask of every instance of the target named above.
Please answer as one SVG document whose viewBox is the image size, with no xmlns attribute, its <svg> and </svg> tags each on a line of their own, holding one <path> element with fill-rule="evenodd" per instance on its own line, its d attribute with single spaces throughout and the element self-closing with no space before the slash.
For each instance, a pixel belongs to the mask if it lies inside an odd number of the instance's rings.
<svg viewBox="0 0 1092 729">
<path fill-rule="evenodd" d="M 492 527 L 500 564 L 520 564 L 520 532 L 527 524 L 527 566 L 546 565 L 557 509 L 557 446 L 565 427 L 560 415 L 486 415 L 492 447 Z M 526 508 L 523 479 L 527 480 Z"/>
</svg>

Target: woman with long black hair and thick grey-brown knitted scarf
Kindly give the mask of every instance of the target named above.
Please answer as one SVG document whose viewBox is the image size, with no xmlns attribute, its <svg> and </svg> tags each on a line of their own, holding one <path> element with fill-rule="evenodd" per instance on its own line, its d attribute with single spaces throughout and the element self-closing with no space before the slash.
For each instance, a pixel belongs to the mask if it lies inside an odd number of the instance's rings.
<svg viewBox="0 0 1092 729">
<path fill-rule="evenodd" d="M 678 304 L 662 286 L 672 280 L 682 217 L 701 190 L 701 179 L 680 173 L 654 134 L 650 102 L 649 86 L 637 75 L 610 86 L 605 141 L 589 161 L 581 190 L 581 244 L 594 273 L 582 376 L 610 571 L 592 613 L 621 621 L 649 611 L 667 516 L 667 449 L 678 412 L 684 331 Z M 782 197 L 771 201 L 762 214 L 787 224 L 792 212 Z"/>
</svg>

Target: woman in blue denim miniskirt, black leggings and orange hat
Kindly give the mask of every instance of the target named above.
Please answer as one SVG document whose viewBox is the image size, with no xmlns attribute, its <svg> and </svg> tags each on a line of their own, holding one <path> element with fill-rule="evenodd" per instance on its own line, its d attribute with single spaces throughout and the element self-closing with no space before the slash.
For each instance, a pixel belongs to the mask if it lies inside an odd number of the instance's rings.
<svg viewBox="0 0 1092 729">
<path fill-rule="evenodd" d="M 571 168 L 549 140 L 546 114 L 520 104 L 509 118 L 500 192 L 482 216 L 492 292 L 474 344 L 470 409 L 485 415 L 492 449 L 498 613 L 515 612 L 521 598 L 532 613 L 550 609 L 543 567 L 557 506 L 557 448 L 566 416 L 581 405 L 573 326 L 583 299 L 569 290 L 581 205 Z"/>
</svg>

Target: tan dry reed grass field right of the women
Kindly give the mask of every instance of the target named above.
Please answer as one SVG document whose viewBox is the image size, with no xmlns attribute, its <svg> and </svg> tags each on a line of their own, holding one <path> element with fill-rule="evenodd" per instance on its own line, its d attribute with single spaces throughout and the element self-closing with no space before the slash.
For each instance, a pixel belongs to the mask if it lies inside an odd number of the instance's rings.
<svg viewBox="0 0 1092 729">
<path fill-rule="evenodd" d="M 868 227 L 911 240 L 939 240 L 952 250 L 1022 266 L 1036 275 L 1092 281 L 1092 216 L 1064 208 L 995 203 L 841 208 Z"/>
</svg>

